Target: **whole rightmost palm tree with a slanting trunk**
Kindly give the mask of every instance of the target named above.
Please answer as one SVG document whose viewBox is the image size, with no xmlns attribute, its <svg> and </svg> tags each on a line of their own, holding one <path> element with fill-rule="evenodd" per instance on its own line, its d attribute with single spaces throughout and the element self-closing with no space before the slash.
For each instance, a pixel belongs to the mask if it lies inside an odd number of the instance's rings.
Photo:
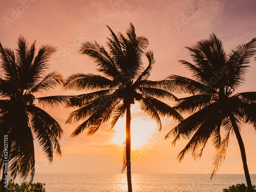
<svg viewBox="0 0 256 192">
<path fill-rule="evenodd" d="M 234 48 L 230 54 L 226 54 L 215 34 L 187 49 L 194 64 L 184 60 L 180 62 L 192 73 L 192 78 L 173 75 L 168 79 L 175 80 L 176 86 L 194 92 L 193 96 L 180 99 L 175 107 L 178 112 L 191 115 L 166 138 L 173 135 L 174 145 L 181 137 L 190 139 L 178 155 L 179 162 L 188 152 L 195 159 L 200 158 L 207 141 L 211 140 L 216 149 L 212 177 L 224 161 L 230 134 L 234 133 L 241 151 L 247 186 L 252 191 L 240 131 L 243 123 L 256 128 L 256 92 L 236 91 L 244 82 L 247 65 L 256 52 L 256 38 Z"/>
</svg>

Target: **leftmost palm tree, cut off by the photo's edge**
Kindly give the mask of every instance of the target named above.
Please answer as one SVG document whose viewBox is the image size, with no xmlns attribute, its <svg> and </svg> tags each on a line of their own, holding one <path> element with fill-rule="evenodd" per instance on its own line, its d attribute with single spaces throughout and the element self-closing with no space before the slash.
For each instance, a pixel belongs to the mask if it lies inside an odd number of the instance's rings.
<svg viewBox="0 0 256 192">
<path fill-rule="evenodd" d="M 4 48 L 0 43 L 0 168 L 4 160 L 11 178 L 20 175 L 31 181 L 35 174 L 34 138 L 51 162 L 53 153 L 61 155 L 59 139 L 63 131 L 60 124 L 36 103 L 61 103 L 65 97 L 50 96 L 36 98 L 56 86 L 63 79 L 57 72 L 50 72 L 47 62 L 55 52 L 50 45 L 41 46 L 36 54 L 35 41 L 29 47 L 23 36 L 18 37 L 17 49 Z M 8 136 L 8 151 L 4 138 Z M 8 155 L 6 155 L 8 154 Z M 4 178 L 3 174 L 3 178 Z M 2 190 L 5 191 L 3 187 Z"/>
</svg>

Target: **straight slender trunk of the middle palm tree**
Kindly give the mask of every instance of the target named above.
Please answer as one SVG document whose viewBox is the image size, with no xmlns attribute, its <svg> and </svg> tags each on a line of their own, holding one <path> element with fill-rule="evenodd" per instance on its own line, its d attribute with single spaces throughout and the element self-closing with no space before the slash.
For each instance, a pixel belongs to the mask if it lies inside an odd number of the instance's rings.
<svg viewBox="0 0 256 192">
<path fill-rule="evenodd" d="M 128 192 L 132 192 L 131 176 L 131 109 L 130 104 L 126 106 L 126 166 L 127 166 L 127 184 Z"/>
</svg>

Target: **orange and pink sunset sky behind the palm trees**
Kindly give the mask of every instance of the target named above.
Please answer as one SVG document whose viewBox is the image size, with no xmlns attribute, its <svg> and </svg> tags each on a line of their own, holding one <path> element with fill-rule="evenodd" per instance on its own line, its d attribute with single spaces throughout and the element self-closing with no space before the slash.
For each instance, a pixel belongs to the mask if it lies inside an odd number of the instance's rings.
<svg viewBox="0 0 256 192">
<path fill-rule="evenodd" d="M 31 43 L 51 44 L 58 51 L 51 59 L 53 70 L 65 77 L 83 72 L 95 73 L 94 63 L 77 53 L 80 42 L 97 40 L 105 45 L 109 25 L 114 31 L 124 32 L 132 22 L 138 35 L 150 40 L 149 49 L 154 51 L 156 64 L 152 80 L 163 79 L 167 75 L 189 76 L 179 59 L 190 60 L 185 46 L 191 46 L 201 38 L 214 32 L 223 41 L 227 52 L 232 47 L 248 42 L 256 37 L 256 2 L 246 1 L 42 1 L 20 0 L 0 2 L 0 41 L 5 47 L 16 47 L 19 34 Z M 185 18 L 186 17 L 186 18 Z M 188 18 L 187 18 L 188 17 Z M 240 92 L 256 91 L 256 62 L 252 61 L 245 84 Z M 76 94 L 60 89 L 49 94 Z M 179 95 L 178 95 L 179 97 Z M 116 134 L 124 129 L 117 124 L 116 131 L 109 131 L 104 124 L 93 136 L 81 134 L 75 139 L 69 136 L 78 124 L 65 125 L 69 110 L 48 110 L 63 127 L 65 135 L 61 140 L 62 158 L 55 157 L 51 165 L 36 146 L 36 173 L 120 173 L 122 147 L 117 144 Z M 163 132 L 158 133 L 156 123 L 139 111 L 137 105 L 132 109 L 134 141 L 144 144 L 132 152 L 132 173 L 210 173 L 214 149 L 210 142 L 200 160 L 194 161 L 187 155 L 178 164 L 176 157 L 187 141 L 179 141 L 176 147 L 172 140 L 163 140 L 175 122 L 163 119 Z M 121 120 L 121 122 L 124 122 Z M 146 134 L 148 133 L 148 134 Z M 143 136 L 143 137 L 142 137 Z M 246 147 L 248 166 L 251 174 L 256 174 L 256 135 L 250 126 L 245 126 L 242 137 Z M 147 140 L 146 140 L 147 139 Z M 137 143 L 137 144 L 141 144 Z M 238 143 L 230 139 L 226 161 L 219 174 L 243 174 L 242 160 Z"/>
</svg>

